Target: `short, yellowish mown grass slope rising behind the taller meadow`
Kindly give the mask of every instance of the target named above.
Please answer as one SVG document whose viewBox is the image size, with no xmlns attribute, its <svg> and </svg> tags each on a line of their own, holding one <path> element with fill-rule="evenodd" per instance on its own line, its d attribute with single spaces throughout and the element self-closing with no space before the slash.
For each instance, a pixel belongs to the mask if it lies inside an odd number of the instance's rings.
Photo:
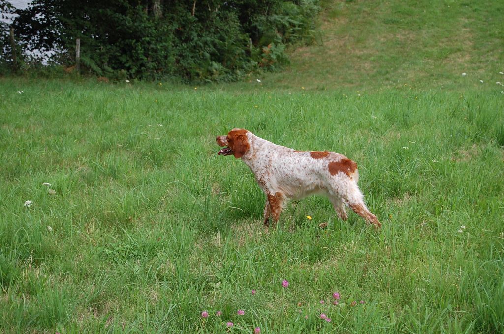
<svg viewBox="0 0 504 334">
<path fill-rule="evenodd" d="M 316 44 L 294 50 L 287 71 L 265 84 L 366 91 L 495 85 L 504 81 L 502 17 L 498 1 L 324 0 Z"/>
</svg>

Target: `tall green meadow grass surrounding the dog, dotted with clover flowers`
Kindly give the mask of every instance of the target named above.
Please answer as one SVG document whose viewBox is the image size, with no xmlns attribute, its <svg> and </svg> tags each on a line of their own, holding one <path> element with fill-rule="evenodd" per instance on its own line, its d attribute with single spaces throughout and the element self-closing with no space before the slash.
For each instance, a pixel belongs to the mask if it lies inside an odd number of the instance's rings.
<svg viewBox="0 0 504 334">
<path fill-rule="evenodd" d="M 366 3 L 326 4 L 323 18 Z M 474 54 L 502 38 L 477 36 Z M 503 332 L 504 62 L 492 54 L 465 77 L 391 72 L 392 84 L 319 80 L 334 60 L 322 56 L 303 77 L 297 53 L 262 83 L 0 79 L 0 332 Z M 383 228 L 308 197 L 266 231 L 253 175 L 217 156 L 233 127 L 355 160 Z"/>
</svg>

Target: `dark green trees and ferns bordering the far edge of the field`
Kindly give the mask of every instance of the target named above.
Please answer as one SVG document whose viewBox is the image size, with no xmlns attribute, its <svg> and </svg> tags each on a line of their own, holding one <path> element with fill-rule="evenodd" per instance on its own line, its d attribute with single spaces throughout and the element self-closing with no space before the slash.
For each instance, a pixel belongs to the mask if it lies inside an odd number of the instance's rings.
<svg viewBox="0 0 504 334">
<path fill-rule="evenodd" d="M 36 0 L 16 11 L 13 25 L 19 51 L 56 50 L 49 62 L 67 70 L 80 38 L 83 73 L 231 81 L 287 62 L 287 45 L 313 37 L 318 5 L 318 0 Z M 5 72 L 11 50 L 7 25 L 2 30 Z M 18 68 L 33 68 L 40 60 L 25 54 Z"/>
</svg>

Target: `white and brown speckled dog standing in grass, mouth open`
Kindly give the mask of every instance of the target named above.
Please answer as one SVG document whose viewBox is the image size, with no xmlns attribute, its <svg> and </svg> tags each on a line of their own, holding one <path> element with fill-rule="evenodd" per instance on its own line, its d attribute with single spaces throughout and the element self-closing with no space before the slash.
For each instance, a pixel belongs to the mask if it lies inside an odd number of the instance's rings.
<svg viewBox="0 0 504 334">
<path fill-rule="evenodd" d="M 286 197 L 301 199 L 311 194 L 329 197 L 338 217 L 347 220 L 345 206 L 375 227 L 382 224 L 367 209 L 357 181 L 357 164 L 329 151 L 296 151 L 255 136 L 245 129 L 233 129 L 217 136 L 217 145 L 225 146 L 218 155 L 240 158 L 254 173 L 266 194 L 264 224 L 270 216 L 276 223 Z"/>
</svg>

